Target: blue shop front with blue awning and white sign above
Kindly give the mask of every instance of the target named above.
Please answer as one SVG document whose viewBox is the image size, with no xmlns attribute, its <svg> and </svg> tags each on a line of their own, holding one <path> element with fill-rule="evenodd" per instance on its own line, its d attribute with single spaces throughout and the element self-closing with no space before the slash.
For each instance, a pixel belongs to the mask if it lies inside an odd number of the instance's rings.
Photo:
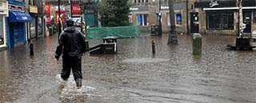
<svg viewBox="0 0 256 103">
<path fill-rule="evenodd" d="M 26 22 L 31 22 L 32 18 L 30 14 L 25 13 L 25 5 L 25 2 L 9 2 L 8 48 L 14 48 L 14 45 L 19 43 L 26 44 Z"/>
</svg>

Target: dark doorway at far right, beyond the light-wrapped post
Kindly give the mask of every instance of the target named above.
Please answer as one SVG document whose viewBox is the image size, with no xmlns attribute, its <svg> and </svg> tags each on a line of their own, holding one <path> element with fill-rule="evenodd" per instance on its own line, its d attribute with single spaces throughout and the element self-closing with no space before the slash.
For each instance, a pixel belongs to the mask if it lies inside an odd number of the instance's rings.
<svg viewBox="0 0 256 103">
<path fill-rule="evenodd" d="M 243 31 L 244 33 L 251 32 L 251 12 L 243 12 L 243 23 L 246 24 L 246 29 Z"/>
</svg>

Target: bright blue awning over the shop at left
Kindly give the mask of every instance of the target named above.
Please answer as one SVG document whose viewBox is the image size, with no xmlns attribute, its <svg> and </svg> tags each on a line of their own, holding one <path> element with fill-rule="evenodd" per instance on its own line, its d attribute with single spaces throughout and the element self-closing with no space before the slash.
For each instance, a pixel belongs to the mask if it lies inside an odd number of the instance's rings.
<svg viewBox="0 0 256 103">
<path fill-rule="evenodd" d="M 31 22 L 32 18 L 30 14 L 18 12 L 18 11 L 9 11 L 9 21 L 10 22 Z"/>
</svg>

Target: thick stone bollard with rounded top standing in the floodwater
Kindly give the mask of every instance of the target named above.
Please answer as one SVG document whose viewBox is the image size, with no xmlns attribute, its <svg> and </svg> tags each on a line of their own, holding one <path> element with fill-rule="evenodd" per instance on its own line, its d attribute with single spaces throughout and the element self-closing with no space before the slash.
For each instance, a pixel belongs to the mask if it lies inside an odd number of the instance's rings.
<svg viewBox="0 0 256 103">
<path fill-rule="evenodd" d="M 193 54 L 201 55 L 202 54 L 202 35 L 193 34 Z"/>
</svg>

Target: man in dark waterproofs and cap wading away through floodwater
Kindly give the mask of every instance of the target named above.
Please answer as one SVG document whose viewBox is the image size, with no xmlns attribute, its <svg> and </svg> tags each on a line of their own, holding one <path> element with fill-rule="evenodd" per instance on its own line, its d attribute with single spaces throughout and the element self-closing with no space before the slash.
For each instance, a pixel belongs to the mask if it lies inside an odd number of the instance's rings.
<svg viewBox="0 0 256 103">
<path fill-rule="evenodd" d="M 62 73 L 61 77 L 64 81 L 70 77 L 70 71 L 74 74 L 74 81 L 77 87 L 82 86 L 82 70 L 81 60 L 82 53 L 86 52 L 86 42 L 83 34 L 75 30 L 73 19 L 66 20 L 66 28 L 58 38 L 58 46 L 55 52 L 55 58 L 59 63 L 59 57 L 62 55 Z"/>
</svg>

